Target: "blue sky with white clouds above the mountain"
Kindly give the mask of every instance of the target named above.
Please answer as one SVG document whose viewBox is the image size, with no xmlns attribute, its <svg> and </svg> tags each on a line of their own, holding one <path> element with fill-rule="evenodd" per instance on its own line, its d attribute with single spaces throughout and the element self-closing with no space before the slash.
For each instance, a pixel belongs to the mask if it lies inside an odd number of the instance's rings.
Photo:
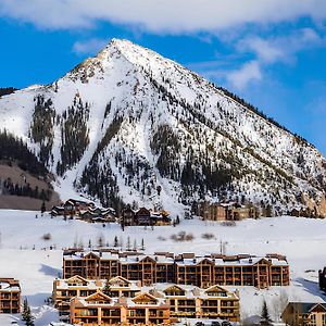
<svg viewBox="0 0 326 326">
<path fill-rule="evenodd" d="M 226 87 L 326 154 L 325 0 L 0 0 L 0 87 L 50 83 L 113 37 Z"/>
</svg>

